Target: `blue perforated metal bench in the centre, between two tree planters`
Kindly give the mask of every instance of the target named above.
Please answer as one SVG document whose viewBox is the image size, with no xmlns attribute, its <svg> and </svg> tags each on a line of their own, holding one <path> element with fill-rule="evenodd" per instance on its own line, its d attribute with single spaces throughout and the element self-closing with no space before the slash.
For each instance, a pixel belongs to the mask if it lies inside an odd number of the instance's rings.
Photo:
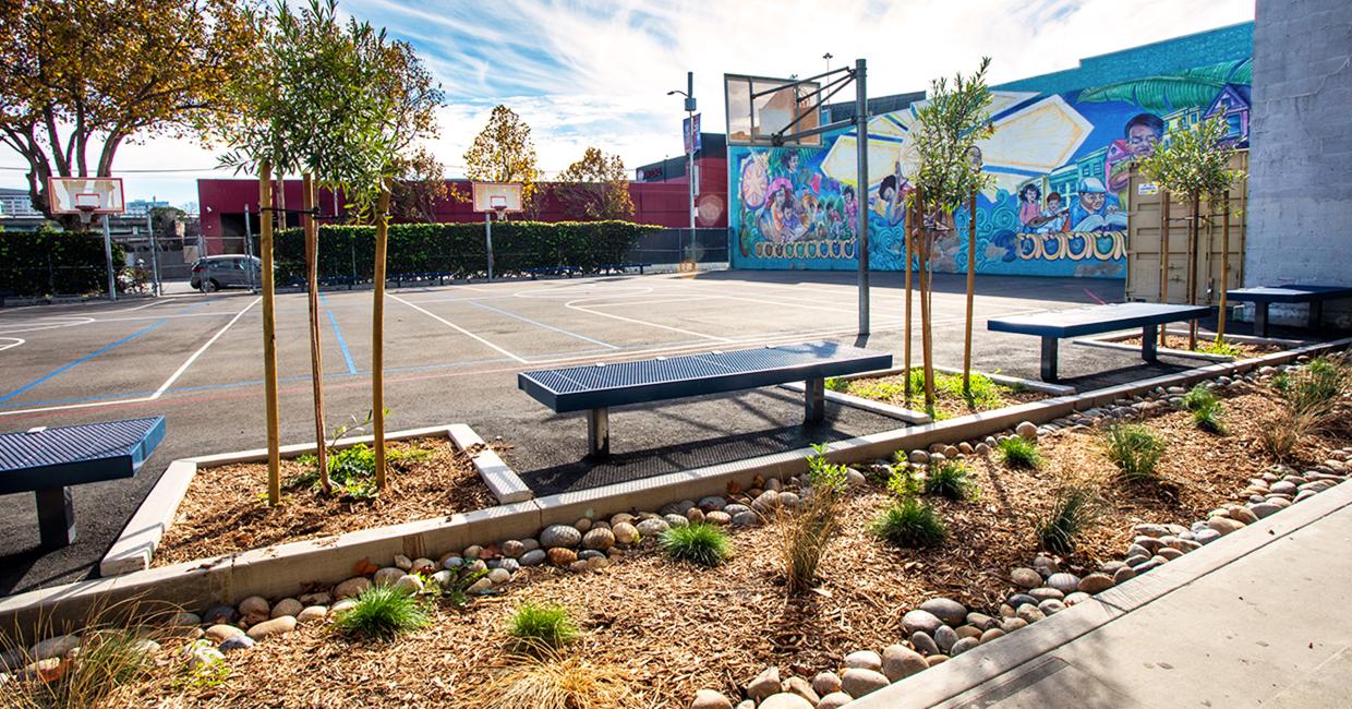
<svg viewBox="0 0 1352 709">
<path fill-rule="evenodd" d="M 588 411 L 588 455 L 604 457 L 610 455 L 611 406 L 804 382 L 803 419 L 815 424 L 825 417 L 826 378 L 891 365 L 891 354 L 810 342 L 537 369 L 518 373 L 516 387 L 556 413 Z"/>
</svg>

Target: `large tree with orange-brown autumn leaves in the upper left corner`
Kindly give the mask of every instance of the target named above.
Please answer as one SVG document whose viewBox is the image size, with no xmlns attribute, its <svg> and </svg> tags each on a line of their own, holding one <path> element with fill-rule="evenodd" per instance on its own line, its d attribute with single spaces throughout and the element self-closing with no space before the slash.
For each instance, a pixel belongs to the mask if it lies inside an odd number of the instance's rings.
<svg viewBox="0 0 1352 709">
<path fill-rule="evenodd" d="M 0 143 L 47 177 L 112 175 L 132 137 L 185 135 L 227 103 L 256 26 L 241 0 L 32 0 L 0 4 Z"/>
</svg>

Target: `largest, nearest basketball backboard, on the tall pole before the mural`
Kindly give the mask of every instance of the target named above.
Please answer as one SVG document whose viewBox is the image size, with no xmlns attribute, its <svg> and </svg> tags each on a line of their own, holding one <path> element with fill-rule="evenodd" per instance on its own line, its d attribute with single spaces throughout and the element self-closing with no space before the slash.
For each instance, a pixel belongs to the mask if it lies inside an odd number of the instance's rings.
<svg viewBox="0 0 1352 709">
<path fill-rule="evenodd" d="M 729 145 L 775 145 L 773 135 L 779 131 L 800 133 L 821 126 L 817 81 L 723 74 L 723 89 Z M 807 135 L 783 145 L 819 146 L 822 137 Z"/>
</svg>

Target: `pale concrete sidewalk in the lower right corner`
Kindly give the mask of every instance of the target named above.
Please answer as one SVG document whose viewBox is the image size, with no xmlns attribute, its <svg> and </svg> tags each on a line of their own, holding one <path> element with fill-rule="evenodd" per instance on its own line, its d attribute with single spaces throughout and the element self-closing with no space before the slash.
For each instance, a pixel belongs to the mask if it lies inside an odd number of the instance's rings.
<svg viewBox="0 0 1352 709">
<path fill-rule="evenodd" d="M 852 702 L 1352 706 L 1352 484 Z"/>
</svg>

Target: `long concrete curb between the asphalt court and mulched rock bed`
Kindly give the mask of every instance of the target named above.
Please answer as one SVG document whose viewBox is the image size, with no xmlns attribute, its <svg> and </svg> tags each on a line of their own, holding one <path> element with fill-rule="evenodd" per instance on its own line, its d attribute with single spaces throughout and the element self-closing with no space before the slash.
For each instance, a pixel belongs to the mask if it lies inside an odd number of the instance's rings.
<svg viewBox="0 0 1352 709">
<path fill-rule="evenodd" d="M 955 442 L 977 438 L 1013 428 L 1021 421 L 1042 424 L 1076 409 L 1102 406 L 1114 399 L 1132 396 L 1156 387 L 1192 384 L 1203 379 L 1214 379 L 1264 365 L 1282 364 L 1295 360 L 1302 354 L 1317 354 L 1348 345 L 1352 345 L 1352 338 L 1275 352 L 1240 363 L 1213 364 L 1073 396 L 1057 396 L 998 411 L 861 436 L 829 444 L 826 455 L 836 463 L 890 459 L 898 449 L 925 448 L 932 442 Z M 435 433 L 446 434 L 446 426 L 434 426 L 399 432 L 397 434 L 416 437 Z M 389 437 L 393 436 L 392 433 Z M 369 441 L 370 437 L 354 438 L 350 442 L 361 442 L 362 440 Z M 314 449 L 314 444 L 284 447 L 284 451 L 295 453 L 304 452 L 307 448 Z M 373 528 L 334 537 L 281 544 L 218 559 L 149 568 L 110 579 L 39 589 L 0 598 L 0 633 L 19 632 L 19 629 L 30 626 L 26 624 L 38 620 L 50 620 L 53 622 L 65 622 L 66 626 L 76 626 L 91 609 L 128 598 L 154 598 L 157 601 L 178 603 L 189 609 L 200 609 L 246 595 L 269 598 L 291 595 L 316 583 L 337 583 L 352 576 L 354 562 L 362 557 L 383 562 L 396 553 L 426 556 L 427 553 L 462 548 L 469 544 L 487 544 L 504 539 L 531 536 L 549 524 L 573 522 L 581 517 L 602 517 L 637 507 L 652 509 L 677 499 L 698 499 L 703 495 L 722 494 L 726 493 L 729 482 L 737 482 L 745 487 L 756 475 L 798 475 L 807 470 L 807 456 L 813 453 L 811 448 L 784 451 L 781 453 L 658 475 L 642 480 L 502 505 L 468 514 L 453 514 L 450 517 L 423 520 L 404 525 Z M 224 464 L 238 460 L 256 460 L 257 455 L 258 452 L 224 453 L 187 460 L 199 465 Z M 262 456 L 266 456 L 265 451 Z M 1348 490 L 1352 491 L 1352 487 Z M 1317 495 L 1314 499 L 1317 501 L 1322 497 L 1325 495 Z M 1309 502 L 1302 505 L 1309 505 Z M 1280 514 L 1276 514 L 1272 518 L 1279 517 Z M 1183 563 L 1186 559 L 1188 557 L 1171 562 L 1171 564 Z M 1159 574 L 1160 576 L 1169 575 L 1168 567 L 1169 564 L 1165 564 L 1165 567 L 1151 574 Z M 1121 602 L 1126 603 L 1126 601 Z M 1117 609 L 1117 606 L 1109 606 L 1109 603 L 1102 601 L 1099 605 L 1110 610 Z M 1087 610 L 1082 613 L 1087 613 Z M 1057 624 L 1072 622 L 1057 620 L 1061 616 L 1059 613 L 1042 622 L 1052 622 L 1053 628 Z M 1073 618 L 1075 616 L 1068 617 Z M 1015 633 L 1015 637 L 1018 635 Z"/>
</svg>

